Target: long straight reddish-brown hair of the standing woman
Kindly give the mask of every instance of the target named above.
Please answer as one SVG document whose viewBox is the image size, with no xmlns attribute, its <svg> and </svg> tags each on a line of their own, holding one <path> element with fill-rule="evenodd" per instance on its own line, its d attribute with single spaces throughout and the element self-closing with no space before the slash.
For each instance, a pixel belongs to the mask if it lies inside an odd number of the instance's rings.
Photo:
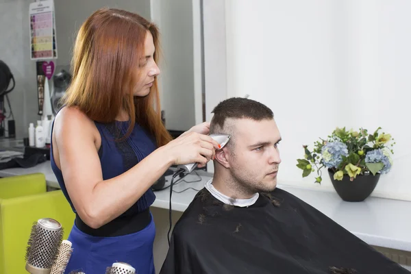
<svg viewBox="0 0 411 274">
<path fill-rule="evenodd" d="M 153 58 L 158 63 L 159 32 L 153 23 L 125 10 L 102 8 L 94 12 L 77 34 L 71 64 L 73 78 L 62 103 L 79 108 L 99 123 L 112 123 L 124 109 L 131 122 L 125 136 L 138 123 L 161 147 L 172 138 L 162 124 L 157 79 L 149 95 L 133 95 L 147 31 L 153 36 Z"/>
</svg>

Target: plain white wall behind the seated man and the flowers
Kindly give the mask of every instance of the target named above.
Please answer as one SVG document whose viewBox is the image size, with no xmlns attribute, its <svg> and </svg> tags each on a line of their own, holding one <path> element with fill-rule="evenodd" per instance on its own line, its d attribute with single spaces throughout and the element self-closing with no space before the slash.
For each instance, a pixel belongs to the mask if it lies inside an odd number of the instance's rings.
<svg viewBox="0 0 411 274">
<path fill-rule="evenodd" d="M 313 176 L 301 177 L 295 166 L 301 146 L 326 138 L 337 126 L 381 126 L 397 139 L 397 153 L 373 195 L 411 200 L 406 166 L 411 2 L 227 0 L 225 5 L 227 97 L 248 93 L 275 112 L 283 137 L 279 184 L 332 191 L 325 170 L 321 186 L 312 183 Z M 206 81 L 212 79 L 206 75 Z M 212 90 L 206 92 L 212 96 Z"/>
</svg>

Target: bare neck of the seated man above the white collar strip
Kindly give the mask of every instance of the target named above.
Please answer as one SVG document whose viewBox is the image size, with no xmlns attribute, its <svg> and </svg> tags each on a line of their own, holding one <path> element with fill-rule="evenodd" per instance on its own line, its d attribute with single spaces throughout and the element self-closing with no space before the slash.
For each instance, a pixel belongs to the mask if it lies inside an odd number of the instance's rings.
<svg viewBox="0 0 411 274">
<path fill-rule="evenodd" d="M 221 192 L 221 194 L 232 199 L 250 199 L 256 195 L 256 193 L 244 189 L 238 182 L 234 181 L 232 177 L 223 176 L 219 173 L 214 173 L 212 185 L 217 191 Z"/>
</svg>

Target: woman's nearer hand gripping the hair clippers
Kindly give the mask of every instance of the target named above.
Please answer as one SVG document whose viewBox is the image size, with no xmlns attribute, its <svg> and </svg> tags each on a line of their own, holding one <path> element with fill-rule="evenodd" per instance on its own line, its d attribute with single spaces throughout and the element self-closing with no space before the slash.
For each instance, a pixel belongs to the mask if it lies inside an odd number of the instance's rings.
<svg viewBox="0 0 411 274">
<path fill-rule="evenodd" d="M 211 159 L 214 160 L 215 150 L 219 147 L 219 142 L 197 132 L 179 136 L 164 146 L 174 165 L 197 162 L 200 168 Z"/>
</svg>

